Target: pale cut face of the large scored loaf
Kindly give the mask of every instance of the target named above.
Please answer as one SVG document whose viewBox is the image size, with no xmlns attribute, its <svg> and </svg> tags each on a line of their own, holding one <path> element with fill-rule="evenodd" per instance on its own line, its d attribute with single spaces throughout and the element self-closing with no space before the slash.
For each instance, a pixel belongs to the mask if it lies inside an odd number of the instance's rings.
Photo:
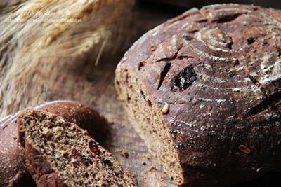
<svg viewBox="0 0 281 187">
<path fill-rule="evenodd" d="M 169 129 L 162 120 L 162 111 L 154 106 L 143 85 L 126 67 L 120 66 L 116 71 L 115 86 L 131 124 L 152 155 L 175 183 L 187 183 L 178 153 L 169 137 Z"/>
</svg>

